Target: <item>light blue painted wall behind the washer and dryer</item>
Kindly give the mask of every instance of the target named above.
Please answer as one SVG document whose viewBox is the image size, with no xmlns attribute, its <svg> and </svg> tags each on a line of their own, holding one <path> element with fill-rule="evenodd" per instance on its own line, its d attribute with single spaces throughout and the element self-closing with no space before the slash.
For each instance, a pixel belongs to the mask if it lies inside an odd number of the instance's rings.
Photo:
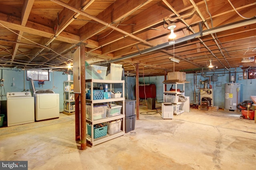
<svg viewBox="0 0 256 170">
<path fill-rule="evenodd" d="M 60 112 L 64 110 L 64 84 L 63 81 L 68 80 L 68 75 L 62 75 L 63 72 L 50 72 L 50 81 L 44 81 L 44 85 L 38 85 L 38 81 L 34 81 L 36 90 L 50 89 L 54 93 L 60 94 Z M 6 101 L 7 92 L 19 92 L 29 90 L 33 94 L 30 81 L 26 79 L 26 71 L 18 69 L 0 68 L 0 78 L 4 79 L 4 86 L 0 87 L 0 101 Z M 14 78 L 14 86 L 12 85 Z"/>
</svg>

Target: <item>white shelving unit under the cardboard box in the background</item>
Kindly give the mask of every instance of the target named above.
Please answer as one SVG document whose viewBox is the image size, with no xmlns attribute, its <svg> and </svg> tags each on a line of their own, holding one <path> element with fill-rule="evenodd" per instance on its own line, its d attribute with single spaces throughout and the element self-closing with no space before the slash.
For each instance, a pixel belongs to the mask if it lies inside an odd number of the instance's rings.
<svg viewBox="0 0 256 170">
<path fill-rule="evenodd" d="M 172 103 L 174 106 L 174 114 L 179 115 L 184 112 L 184 103 L 179 102 L 179 95 L 185 94 L 185 83 L 179 83 L 179 82 L 169 82 L 164 81 L 164 86 L 169 85 L 175 85 L 174 88 L 172 88 L 172 91 L 164 91 L 164 102 Z M 178 90 L 178 87 L 182 87 L 182 90 Z M 165 87 L 164 87 L 165 88 Z"/>
</svg>

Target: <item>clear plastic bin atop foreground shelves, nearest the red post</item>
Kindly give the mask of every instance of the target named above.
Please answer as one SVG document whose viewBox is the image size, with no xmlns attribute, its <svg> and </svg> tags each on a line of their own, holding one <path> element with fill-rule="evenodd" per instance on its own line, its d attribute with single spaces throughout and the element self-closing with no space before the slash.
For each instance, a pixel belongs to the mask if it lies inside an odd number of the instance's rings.
<svg viewBox="0 0 256 170">
<path fill-rule="evenodd" d="M 88 65 L 85 67 L 85 79 L 106 79 L 107 68 L 100 65 Z"/>
</svg>

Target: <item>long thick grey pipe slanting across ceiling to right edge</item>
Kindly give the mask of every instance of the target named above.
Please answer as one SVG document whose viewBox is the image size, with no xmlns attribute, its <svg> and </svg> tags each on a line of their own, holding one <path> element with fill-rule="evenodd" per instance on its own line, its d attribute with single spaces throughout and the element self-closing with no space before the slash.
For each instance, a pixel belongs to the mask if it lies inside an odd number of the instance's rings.
<svg viewBox="0 0 256 170">
<path fill-rule="evenodd" d="M 223 26 L 218 26 L 218 27 L 215 27 L 215 28 L 211 28 L 209 30 L 204 30 L 202 32 L 202 36 L 206 36 L 210 33 L 217 33 L 217 32 L 221 32 L 221 31 L 226 31 L 226 30 L 230 30 L 230 29 L 233 29 L 233 28 L 238 28 L 238 27 L 241 27 L 241 26 L 246 26 L 246 25 L 254 24 L 254 23 L 256 23 L 256 17 L 254 17 L 250 20 L 242 20 L 240 22 L 234 22 L 234 23 L 231 23 L 231 24 L 226 24 L 226 25 L 223 25 Z M 152 51 L 156 51 L 158 49 L 162 49 L 162 48 L 165 48 L 165 47 L 172 46 L 173 43 L 177 44 L 177 43 L 186 42 L 186 41 L 192 40 L 194 38 L 199 38 L 200 36 L 201 36 L 201 32 L 197 32 L 197 33 L 188 35 L 186 37 L 179 38 L 175 42 L 170 41 L 170 42 L 162 43 L 160 45 L 156 45 L 154 47 L 144 49 L 140 52 L 125 55 L 125 56 L 117 58 L 117 59 L 111 59 L 111 60 L 108 60 L 108 61 L 100 62 L 99 65 L 108 64 L 108 63 L 112 63 L 112 62 L 116 62 L 116 61 L 120 61 L 120 60 L 124 60 L 124 59 L 129 59 L 129 58 L 132 58 L 132 57 L 136 57 L 136 56 L 141 55 L 141 54 L 149 53 L 149 52 L 152 52 Z"/>
</svg>

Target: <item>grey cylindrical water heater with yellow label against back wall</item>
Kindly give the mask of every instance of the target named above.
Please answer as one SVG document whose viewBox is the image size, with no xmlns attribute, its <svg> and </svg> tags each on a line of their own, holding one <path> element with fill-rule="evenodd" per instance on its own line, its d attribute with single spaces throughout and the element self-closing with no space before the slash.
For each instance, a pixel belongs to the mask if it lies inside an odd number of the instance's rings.
<svg viewBox="0 0 256 170">
<path fill-rule="evenodd" d="M 236 105 L 240 103 L 240 88 L 240 83 L 225 84 L 225 109 L 236 110 Z"/>
</svg>

